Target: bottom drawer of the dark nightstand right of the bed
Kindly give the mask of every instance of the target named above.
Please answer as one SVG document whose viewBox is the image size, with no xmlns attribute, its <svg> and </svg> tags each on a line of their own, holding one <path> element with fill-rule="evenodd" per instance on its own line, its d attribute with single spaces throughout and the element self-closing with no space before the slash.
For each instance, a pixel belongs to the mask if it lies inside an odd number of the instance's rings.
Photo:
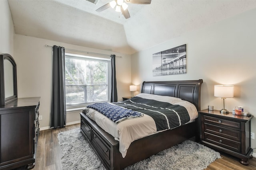
<svg viewBox="0 0 256 170">
<path fill-rule="evenodd" d="M 241 143 L 230 141 L 223 137 L 218 137 L 216 135 L 212 135 L 206 132 L 204 132 L 204 138 L 204 141 L 212 143 L 213 145 L 217 145 L 218 147 L 233 150 L 235 152 L 241 152 Z"/>
</svg>

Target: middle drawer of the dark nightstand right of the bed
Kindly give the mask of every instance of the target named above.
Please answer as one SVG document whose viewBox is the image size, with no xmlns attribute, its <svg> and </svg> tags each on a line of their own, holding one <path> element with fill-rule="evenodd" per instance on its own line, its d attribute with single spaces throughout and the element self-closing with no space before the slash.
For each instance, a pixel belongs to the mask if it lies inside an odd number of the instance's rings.
<svg viewBox="0 0 256 170">
<path fill-rule="evenodd" d="M 211 125 L 208 123 L 204 123 L 204 131 L 233 141 L 241 142 L 240 131 L 235 131 L 232 129 L 227 129 L 225 127 Z"/>
</svg>

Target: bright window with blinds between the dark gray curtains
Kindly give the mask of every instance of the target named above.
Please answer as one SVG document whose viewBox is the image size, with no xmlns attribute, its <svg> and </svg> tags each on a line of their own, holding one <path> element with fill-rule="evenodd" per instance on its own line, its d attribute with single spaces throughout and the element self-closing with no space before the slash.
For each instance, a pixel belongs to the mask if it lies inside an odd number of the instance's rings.
<svg viewBox="0 0 256 170">
<path fill-rule="evenodd" d="M 66 106 L 110 101 L 110 68 L 110 59 L 66 54 Z"/>
</svg>

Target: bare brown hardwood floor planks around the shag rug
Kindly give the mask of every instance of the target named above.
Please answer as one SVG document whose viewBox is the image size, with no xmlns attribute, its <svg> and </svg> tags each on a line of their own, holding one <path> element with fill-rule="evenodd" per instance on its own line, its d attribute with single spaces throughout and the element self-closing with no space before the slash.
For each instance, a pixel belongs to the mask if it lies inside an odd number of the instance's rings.
<svg viewBox="0 0 256 170">
<path fill-rule="evenodd" d="M 60 145 L 57 135 L 62 131 L 80 128 L 80 124 L 68 125 L 64 128 L 40 131 L 36 152 L 36 166 L 33 170 L 61 170 Z M 256 170 L 256 158 L 249 160 L 249 166 L 239 163 L 237 158 L 221 154 L 206 170 Z"/>
</svg>

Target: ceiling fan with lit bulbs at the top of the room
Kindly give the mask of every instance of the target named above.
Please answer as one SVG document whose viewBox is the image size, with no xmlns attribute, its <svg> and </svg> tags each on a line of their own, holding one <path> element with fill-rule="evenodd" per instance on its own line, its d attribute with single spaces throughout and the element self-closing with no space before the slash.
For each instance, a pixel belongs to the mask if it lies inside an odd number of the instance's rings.
<svg viewBox="0 0 256 170">
<path fill-rule="evenodd" d="M 130 13 L 128 11 L 128 5 L 125 3 L 131 3 L 131 4 L 150 4 L 151 0 L 112 0 L 108 4 L 105 4 L 104 6 L 98 8 L 96 11 L 97 12 L 102 12 L 109 7 L 115 8 L 116 7 L 116 12 L 122 12 L 123 16 L 125 19 L 130 18 Z"/>
</svg>

